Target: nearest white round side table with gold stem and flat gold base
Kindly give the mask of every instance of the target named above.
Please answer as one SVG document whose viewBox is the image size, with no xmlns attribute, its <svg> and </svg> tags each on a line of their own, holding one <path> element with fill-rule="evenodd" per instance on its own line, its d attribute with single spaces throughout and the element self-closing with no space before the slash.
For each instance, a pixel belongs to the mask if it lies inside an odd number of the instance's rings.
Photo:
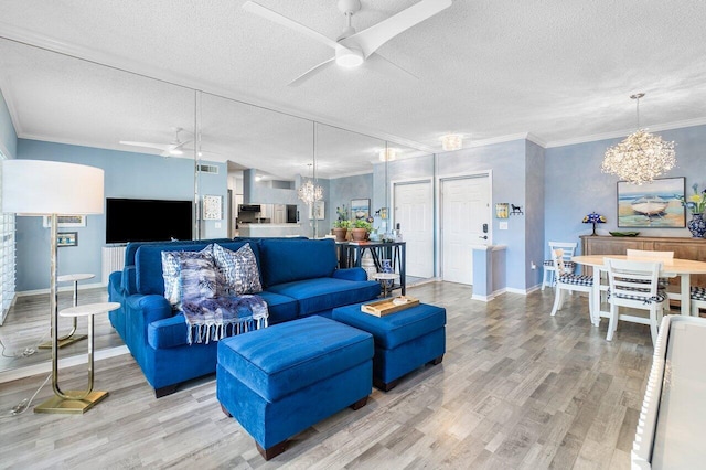
<svg viewBox="0 0 706 470">
<path fill-rule="evenodd" d="M 73 317 L 74 319 L 88 317 L 88 388 L 85 391 L 62 392 L 58 386 L 58 354 L 55 354 L 52 357 L 52 387 L 54 388 L 54 396 L 34 408 L 34 413 L 83 414 L 108 396 L 108 392 L 93 389 L 93 320 L 94 316 L 98 313 L 107 313 L 119 308 L 120 303 L 118 302 L 99 302 L 69 307 L 58 312 L 61 317 Z"/>
</svg>

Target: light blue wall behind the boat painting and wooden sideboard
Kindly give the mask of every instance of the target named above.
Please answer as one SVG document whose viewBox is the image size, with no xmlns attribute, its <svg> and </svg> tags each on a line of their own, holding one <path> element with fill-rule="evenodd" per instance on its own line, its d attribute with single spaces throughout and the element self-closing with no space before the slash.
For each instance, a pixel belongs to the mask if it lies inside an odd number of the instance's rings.
<svg viewBox="0 0 706 470">
<path fill-rule="evenodd" d="M 694 126 L 655 132 L 664 140 L 676 142 L 676 168 L 664 178 L 686 177 L 686 193 L 692 184 L 706 188 L 706 126 Z M 591 224 L 581 220 L 592 211 L 605 215 L 608 222 L 598 226 L 608 235 L 618 228 L 618 178 L 603 174 L 600 165 L 606 149 L 620 139 L 598 140 L 549 148 L 545 150 L 545 213 L 544 256 L 548 258 L 548 241 L 579 242 L 580 235 L 592 232 Z M 686 220 L 691 216 L 687 214 Z M 635 228 L 643 236 L 691 237 L 687 228 Z M 580 245 L 579 245 L 580 252 Z"/>
</svg>

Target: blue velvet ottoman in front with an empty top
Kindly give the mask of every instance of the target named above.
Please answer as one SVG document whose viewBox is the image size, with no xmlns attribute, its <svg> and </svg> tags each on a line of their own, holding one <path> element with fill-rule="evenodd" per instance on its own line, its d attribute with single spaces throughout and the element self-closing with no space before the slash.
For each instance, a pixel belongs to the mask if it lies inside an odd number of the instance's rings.
<svg viewBox="0 0 706 470">
<path fill-rule="evenodd" d="M 373 337 L 313 316 L 218 343 L 216 396 L 269 460 L 287 439 L 373 391 Z"/>
</svg>

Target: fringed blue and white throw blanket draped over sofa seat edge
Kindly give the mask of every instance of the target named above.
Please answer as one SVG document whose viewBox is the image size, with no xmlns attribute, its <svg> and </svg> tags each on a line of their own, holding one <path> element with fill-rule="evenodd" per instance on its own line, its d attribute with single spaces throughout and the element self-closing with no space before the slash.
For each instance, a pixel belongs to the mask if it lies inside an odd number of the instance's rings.
<svg viewBox="0 0 706 470">
<path fill-rule="evenodd" d="M 267 303 L 260 296 L 228 296 L 182 301 L 189 344 L 267 328 Z"/>
</svg>

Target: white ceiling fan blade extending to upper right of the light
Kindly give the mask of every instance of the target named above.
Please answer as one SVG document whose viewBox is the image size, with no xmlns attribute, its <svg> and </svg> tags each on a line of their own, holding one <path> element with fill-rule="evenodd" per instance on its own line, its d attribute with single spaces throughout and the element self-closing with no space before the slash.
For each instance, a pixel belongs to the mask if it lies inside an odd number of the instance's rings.
<svg viewBox="0 0 706 470">
<path fill-rule="evenodd" d="M 363 50 L 363 54 L 367 58 L 397 34 L 421 23 L 450 6 L 451 0 L 421 0 L 419 3 L 413 4 L 387 20 L 383 20 L 371 28 L 341 40 L 341 44 L 349 49 L 357 45 Z"/>
</svg>

